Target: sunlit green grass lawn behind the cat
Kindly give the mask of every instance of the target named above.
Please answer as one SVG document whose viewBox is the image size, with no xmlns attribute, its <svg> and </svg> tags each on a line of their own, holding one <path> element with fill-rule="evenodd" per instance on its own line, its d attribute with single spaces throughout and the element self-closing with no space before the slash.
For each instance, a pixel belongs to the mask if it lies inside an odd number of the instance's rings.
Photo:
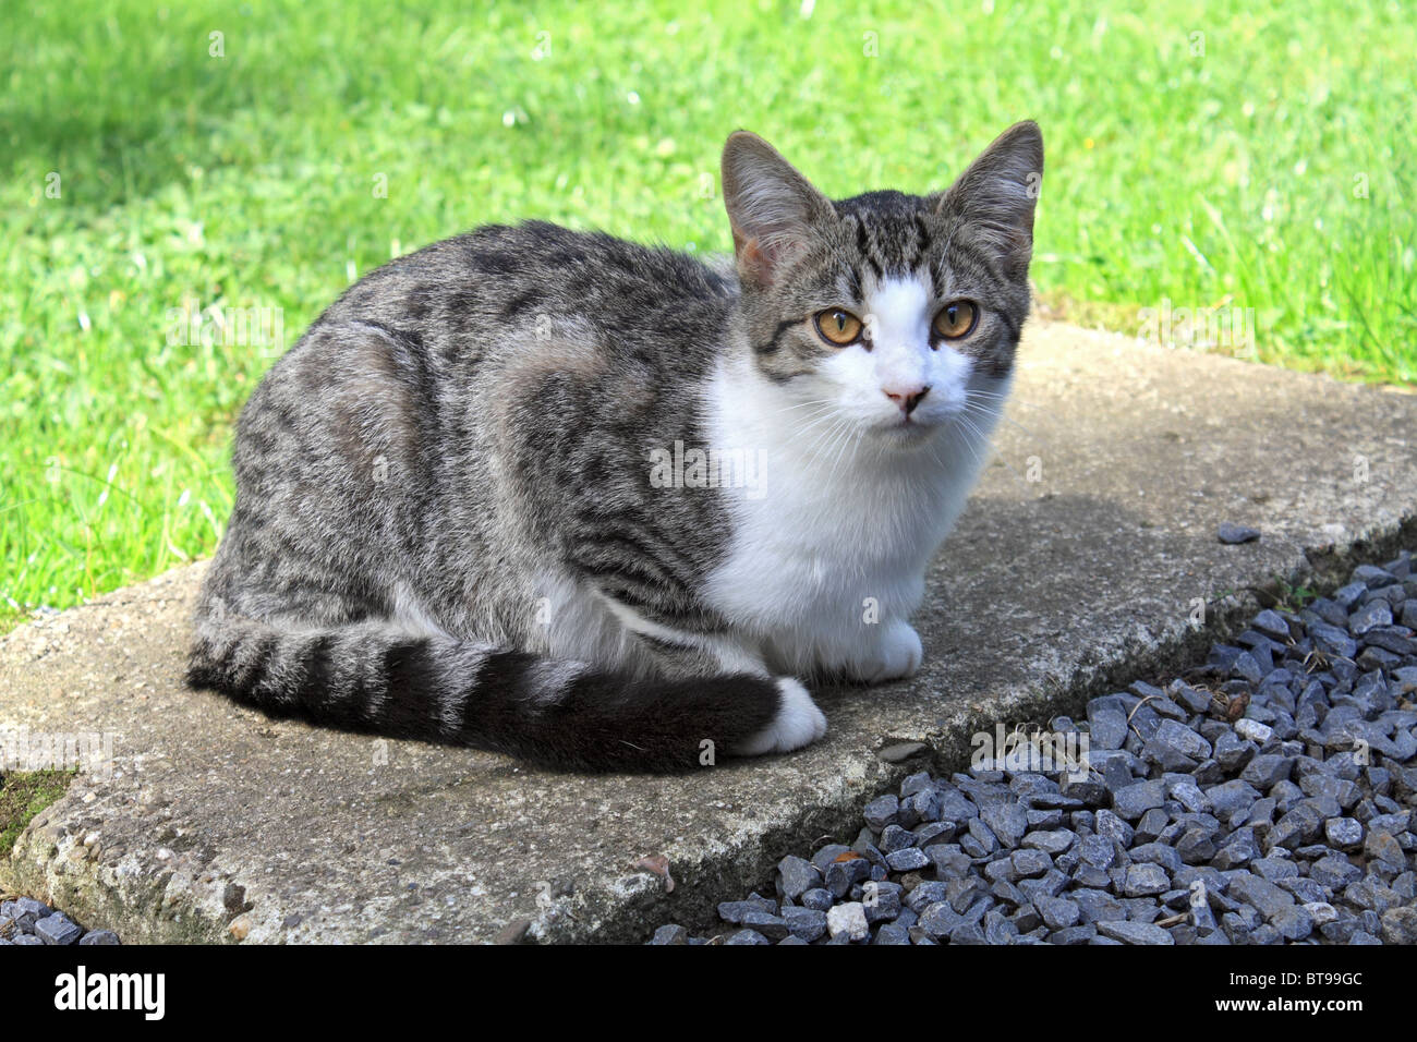
<svg viewBox="0 0 1417 1042">
<path fill-rule="evenodd" d="M 181 342 L 184 301 L 279 309 L 293 343 L 351 276 L 485 221 L 724 250 L 738 126 L 852 194 L 941 187 L 1033 116 L 1046 299 L 1125 332 L 1250 309 L 1261 360 L 1414 379 L 1410 7 L 429 6 L 0 6 L 10 620 L 213 550 L 272 349 Z"/>
</svg>

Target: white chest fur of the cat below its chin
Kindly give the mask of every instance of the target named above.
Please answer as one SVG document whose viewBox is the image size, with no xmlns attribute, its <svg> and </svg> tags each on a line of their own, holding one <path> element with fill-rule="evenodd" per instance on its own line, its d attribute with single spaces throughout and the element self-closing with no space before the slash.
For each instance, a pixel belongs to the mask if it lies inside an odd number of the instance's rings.
<svg viewBox="0 0 1417 1042">
<path fill-rule="evenodd" d="M 706 600 L 782 671 L 859 661 L 920 605 L 924 573 L 964 509 L 988 445 L 947 424 L 925 444 L 823 437 L 748 367 L 726 362 L 706 398 L 710 445 L 761 461 L 761 488 L 720 489 L 733 540 Z M 811 411 L 811 410 L 808 410 Z"/>
</svg>

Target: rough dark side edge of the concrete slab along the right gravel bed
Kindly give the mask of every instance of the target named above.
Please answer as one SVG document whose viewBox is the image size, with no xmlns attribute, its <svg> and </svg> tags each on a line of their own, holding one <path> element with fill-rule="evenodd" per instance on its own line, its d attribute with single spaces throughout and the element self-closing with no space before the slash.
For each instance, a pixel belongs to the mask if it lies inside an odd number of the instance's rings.
<svg viewBox="0 0 1417 1042">
<path fill-rule="evenodd" d="M 1207 605 L 1204 625 L 1173 624 L 1161 638 L 1138 639 L 1132 646 L 1100 655 L 1067 679 L 1054 678 L 1047 688 L 1022 692 L 990 706 L 989 712 L 982 706 L 971 707 L 925 736 L 925 749 L 904 763 L 888 764 L 877 758 L 876 770 L 862 770 L 857 777 L 843 775 L 852 784 L 837 788 L 839 798 L 803 808 L 792 825 L 754 836 L 745 846 L 724 849 L 693 863 L 670 865 L 676 882 L 673 900 L 659 876 L 643 873 L 632 878 L 638 882 L 631 885 L 621 880 L 622 886 L 609 902 L 604 893 L 592 892 L 555 903 L 524 923 L 524 933 L 513 924 L 516 929 L 504 940 L 633 944 L 649 940 L 656 927 L 670 921 L 699 936 L 721 933 L 716 913 L 718 902 L 741 899 L 750 890 L 772 896 L 772 870 L 786 853 L 809 852 L 825 842 L 852 844 L 862 827 L 862 809 L 870 800 L 921 770 L 948 775 L 968 768 L 972 736 L 992 732 L 999 719 L 1046 724 L 1056 716 L 1080 713 L 1088 699 L 1125 689 L 1135 680 L 1169 682 L 1203 662 L 1212 644 L 1241 632 L 1257 611 L 1271 607 L 1281 580 L 1289 587 L 1308 584 L 1321 595 L 1328 594 L 1345 584 L 1357 564 L 1390 560 L 1414 540 L 1417 515 L 1407 515 L 1396 525 L 1369 529 L 1342 544 L 1301 546 L 1288 574 Z"/>
</svg>

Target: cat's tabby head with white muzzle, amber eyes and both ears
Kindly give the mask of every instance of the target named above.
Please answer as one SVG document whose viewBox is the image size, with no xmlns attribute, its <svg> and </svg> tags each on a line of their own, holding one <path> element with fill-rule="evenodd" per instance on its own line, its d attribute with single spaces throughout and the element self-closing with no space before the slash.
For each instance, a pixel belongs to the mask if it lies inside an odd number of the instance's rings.
<svg viewBox="0 0 1417 1042">
<path fill-rule="evenodd" d="M 829 200 L 740 130 L 723 194 L 754 364 L 803 403 L 910 442 L 996 411 L 1029 310 L 1036 123 L 935 194 Z M 976 417 L 978 418 L 978 417 Z"/>
</svg>

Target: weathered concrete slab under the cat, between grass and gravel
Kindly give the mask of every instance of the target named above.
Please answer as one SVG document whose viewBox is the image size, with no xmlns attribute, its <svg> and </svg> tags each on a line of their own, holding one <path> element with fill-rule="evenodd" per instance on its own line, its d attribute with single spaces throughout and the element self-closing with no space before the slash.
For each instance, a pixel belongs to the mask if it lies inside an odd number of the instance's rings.
<svg viewBox="0 0 1417 1042">
<path fill-rule="evenodd" d="M 0 729 L 113 736 L 111 777 L 81 774 L 0 885 L 126 941 L 643 940 L 762 886 L 904 773 L 966 763 L 972 733 L 1176 665 L 1247 588 L 1417 534 L 1417 397 L 1061 325 L 1022 360 L 931 574 L 922 673 L 823 693 L 823 744 L 578 777 L 271 722 L 180 685 L 196 566 L 0 638 Z M 1263 539 L 1223 546 L 1223 520 Z M 901 741 L 924 749 L 877 756 Z"/>
</svg>

